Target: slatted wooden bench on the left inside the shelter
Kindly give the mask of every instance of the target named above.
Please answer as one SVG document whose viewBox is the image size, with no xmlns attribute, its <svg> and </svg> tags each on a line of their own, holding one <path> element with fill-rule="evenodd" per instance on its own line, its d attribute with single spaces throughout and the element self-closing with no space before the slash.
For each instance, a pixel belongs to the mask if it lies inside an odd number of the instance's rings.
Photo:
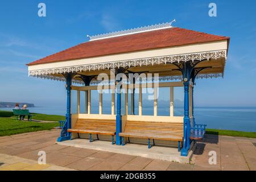
<svg viewBox="0 0 256 182">
<path fill-rule="evenodd" d="M 77 133 L 80 138 L 80 133 L 89 134 L 89 141 L 92 142 L 92 134 L 111 135 L 112 144 L 114 144 L 115 135 L 115 119 L 77 119 L 73 129 L 68 129 L 68 132 Z"/>
</svg>

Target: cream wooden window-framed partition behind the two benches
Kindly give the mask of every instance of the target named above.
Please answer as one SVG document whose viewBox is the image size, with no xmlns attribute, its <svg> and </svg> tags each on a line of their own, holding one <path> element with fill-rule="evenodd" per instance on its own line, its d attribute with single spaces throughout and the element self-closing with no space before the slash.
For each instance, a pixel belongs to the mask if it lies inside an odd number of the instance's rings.
<svg viewBox="0 0 256 182">
<path fill-rule="evenodd" d="M 113 85 L 112 85 L 113 86 Z M 142 89 L 146 88 L 146 84 L 134 84 L 134 88 L 139 89 L 139 115 L 129 115 L 128 113 L 128 89 L 130 85 L 123 85 L 123 88 L 126 88 L 125 94 L 125 115 L 123 120 L 133 120 L 133 121 L 166 121 L 166 122 L 183 122 L 183 117 L 174 116 L 174 87 L 175 86 L 183 86 L 183 82 L 160 82 L 159 87 L 169 87 L 170 88 L 170 116 L 159 116 L 158 113 L 158 88 L 154 88 L 154 115 L 142 115 Z M 151 85 L 152 87 L 152 85 Z M 102 89 L 109 89 L 110 86 L 103 85 Z M 113 88 L 113 87 L 112 87 Z M 97 90 L 98 86 L 72 86 L 73 90 L 77 90 L 77 114 L 79 118 L 105 118 L 105 119 L 115 119 L 115 94 L 114 89 L 112 89 L 112 99 L 111 99 L 111 114 L 102 114 L 102 89 L 99 92 L 99 114 L 90 114 L 91 113 L 91 90 Z M 86 114 L 80 114 L 80 91 L 85 91 L 85 104 L 86 100 L 88 100 L 88 110 L 85 111 Z M 189 89 L 191 93 L 191 89 Z M 189 94 L 191 97 L 191 94 Z M 191 101 L 191 99 L 189 100 Z M 189 113 L 191 113 L 191 102 L 189 103 L 190 109 Z M 133 104 L 131 104 L 131 107 Z M 86 107 L 86 106 L 85 106 Z"/>
</svg>

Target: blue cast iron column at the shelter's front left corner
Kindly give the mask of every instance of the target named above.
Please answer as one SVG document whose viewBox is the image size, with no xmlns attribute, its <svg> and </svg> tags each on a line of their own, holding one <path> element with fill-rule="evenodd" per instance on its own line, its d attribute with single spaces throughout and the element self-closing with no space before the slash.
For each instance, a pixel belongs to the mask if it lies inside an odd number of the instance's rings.
<svg viewBox="0 0 256 182">
<path fill-rule="evenodd" d="M 66 114 L 66 122 L 61 129 L 60 137 L 57 138 L 57 142 L 62 142 L 64 140 L 71 139 L 71 133 L 67 130 L 71 129 L 71 85 L 72 85 L 72 77 L 73 73 L 67 73 L 65 75 L 66 78 L 66 89 L 67 89 L 67 114 Z"/>
</svg>

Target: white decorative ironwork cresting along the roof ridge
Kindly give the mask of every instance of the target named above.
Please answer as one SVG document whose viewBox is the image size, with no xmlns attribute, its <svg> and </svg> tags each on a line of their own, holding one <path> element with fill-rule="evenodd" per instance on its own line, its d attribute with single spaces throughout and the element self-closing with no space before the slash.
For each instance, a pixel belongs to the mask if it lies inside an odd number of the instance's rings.
<svg viewBox="0 0 256 182">
<path fill-rule="evenodd" d="M 175 22 L 175 19 L 172 20 L 172 22 Z M 113 37 L 113 36 L 135 34 L 137 32 L 158 30 L 158 29 L 162 29 L 162 28 L 171 28 L 172 27 L 171 23 L 167 22 L 167 23 L 152 24 L 151 26 L 131 28 L 131 29 L 128 29 L 128 30 L 121 30 L 121 31 L 110 32 L 110 33 L 107 33 L 107 34 L 98 34 L 98 35 L 93 35 L 93 36 L 87 35 L 87 37 L 90 38 L 90 41 L 98 40 L 98 39 L 105 39 L 105 38 L 110 38 L 110 37 Z"/>
</svg>

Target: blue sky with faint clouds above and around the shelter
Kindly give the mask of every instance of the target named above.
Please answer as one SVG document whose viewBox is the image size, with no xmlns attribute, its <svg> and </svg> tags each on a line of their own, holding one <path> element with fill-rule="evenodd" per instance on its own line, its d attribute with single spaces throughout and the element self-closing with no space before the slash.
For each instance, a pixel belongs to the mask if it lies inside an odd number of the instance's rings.
<svg viewBox="0 0 256 182">
<path fill-rule="evenodd" d="M 39 18 L 38 3 L 47 16 Z M 217 17 L 208 16 L 210 2 Z M 196 106 L 256 106 L 256 1 L 1 1 L 0 101 L 65 104 L 64 82 L 27 76 L 26 63 L 86 35 L 170 22 L 230 36 L 224 79 L 196 81 Z"/>
</svg>

